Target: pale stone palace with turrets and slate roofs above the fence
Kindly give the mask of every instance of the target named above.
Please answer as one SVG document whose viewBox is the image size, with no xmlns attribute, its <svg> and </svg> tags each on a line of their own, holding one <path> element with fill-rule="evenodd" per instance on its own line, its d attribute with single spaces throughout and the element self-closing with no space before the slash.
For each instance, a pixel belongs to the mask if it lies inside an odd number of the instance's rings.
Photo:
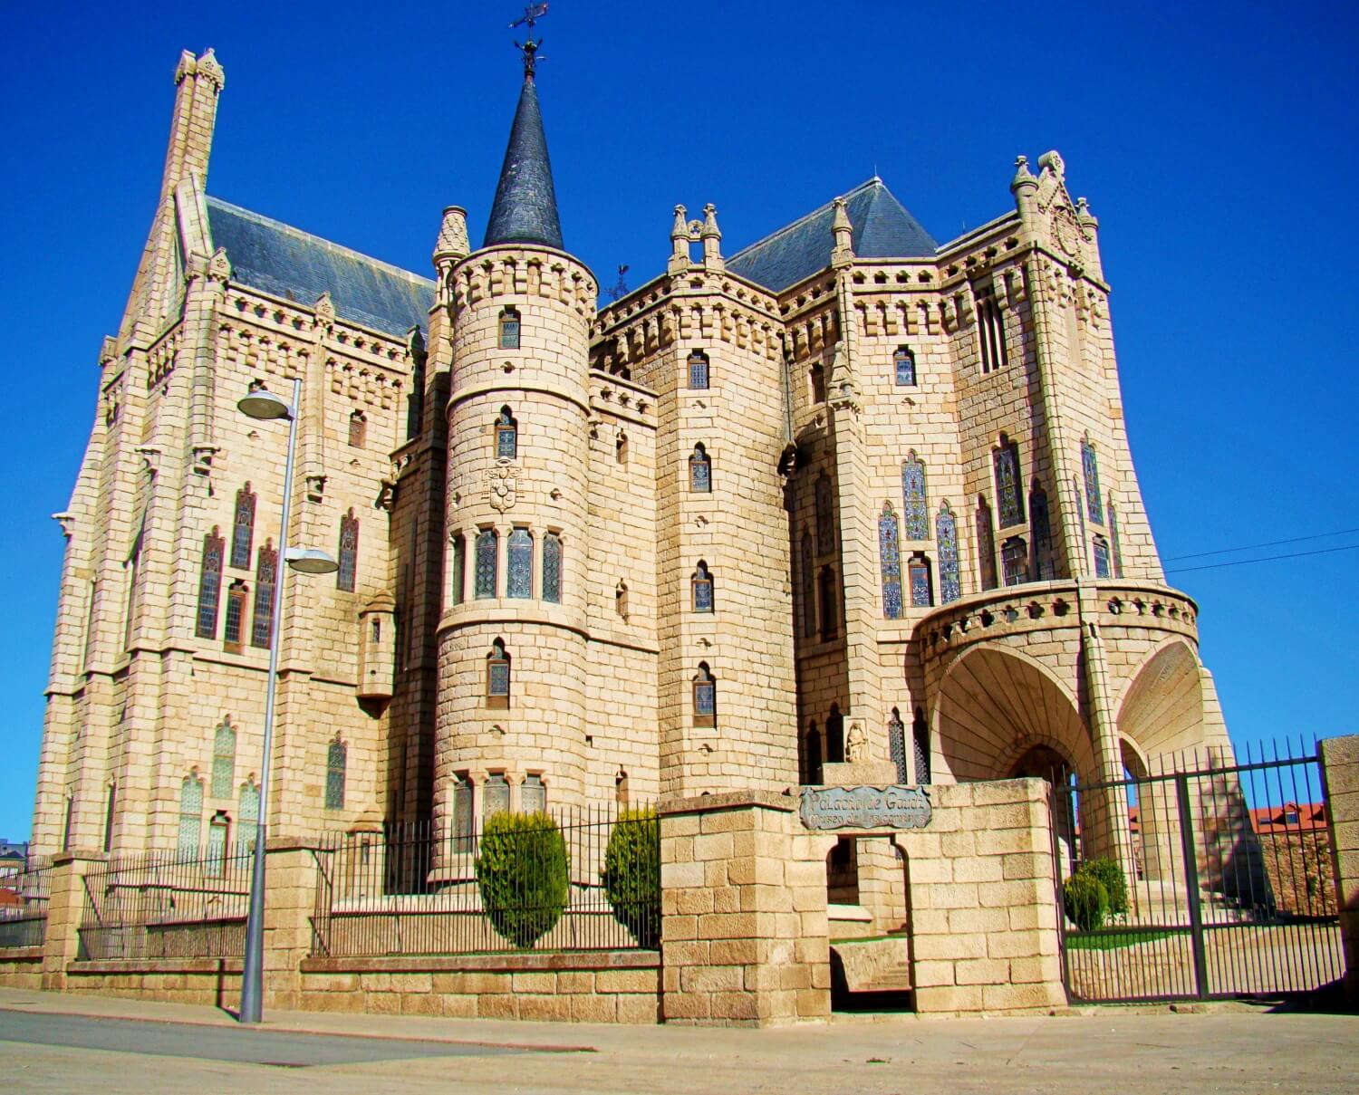
<svg viewBox="0 0 1359 1095">
<path fill-rule="evenodd" d="M 275 643 L 275 831 L 1230 749 L 1056 152 L 945 243 L 878 178 L 735 253 L 677 205 L 601 307 L 531 60 L 481 246 L 431 213 L 413 273 L 215 197 L 224 73 L 182 56 L 56 515 L 35 852 L 250 831 Z M 236 402 L 294 378 L 288 542 L 340 569 L 283 584 L 287 425 Z"/>
</svg>

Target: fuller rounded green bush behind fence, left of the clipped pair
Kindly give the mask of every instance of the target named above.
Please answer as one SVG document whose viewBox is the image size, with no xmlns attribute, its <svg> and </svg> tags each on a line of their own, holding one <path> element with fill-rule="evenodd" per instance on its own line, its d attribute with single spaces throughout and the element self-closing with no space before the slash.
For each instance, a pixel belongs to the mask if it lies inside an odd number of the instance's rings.
<svg viewBox="0 0 1359 1095">
<path fill-rule="evenodd" d="M 477 852 L 481 905 L 506 939 L 531 947 L 567 908 L 567 844 L 546 814 L 493 814 Z"/>
</svg>

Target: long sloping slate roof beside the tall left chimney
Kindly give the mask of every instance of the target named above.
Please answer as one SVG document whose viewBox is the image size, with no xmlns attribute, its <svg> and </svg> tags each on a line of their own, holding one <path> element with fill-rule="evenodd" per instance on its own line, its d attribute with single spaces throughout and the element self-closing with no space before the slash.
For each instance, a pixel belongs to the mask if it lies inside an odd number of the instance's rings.
<svg viewBox="0 0 1359 1095">
<path fill-rule="evenodd" d="M 231 280 L 311 307 L 330 293 L 341 319 L 386 334 L 423 327 L 434 281 L 209 197 L 212 246 L 226 247 Z"/>
</svg>

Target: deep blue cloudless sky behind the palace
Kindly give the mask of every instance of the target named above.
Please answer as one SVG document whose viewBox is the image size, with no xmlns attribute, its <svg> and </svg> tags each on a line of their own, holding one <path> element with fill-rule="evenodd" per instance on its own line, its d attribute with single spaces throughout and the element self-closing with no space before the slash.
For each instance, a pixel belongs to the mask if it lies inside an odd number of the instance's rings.
<svg viewBox="0 0 1359 1095">
<path fill-rule="evenodd" d="M 1355 7 L 1112 7 L 552 0 L 540 94 L 567 247 L 601 284 L 626 262 L 636 285 L 665 265 L 677 201 L 716 202 L 730 254 L 874 170 L 950 239 L 1011 208 L 1017 154 L 1057 148 L 1101 219 L 1162 556 L 1356 527 Z M 477 239 L 485 224 L 516 14 L 10 5 L 0 836 L 29 833 L 63 548 L 48 515 L 151 223 L 179 50 L 215 46 L 227 71 L 211 193 L 428 273 L 444 205 Z M 1200 602 L 1238 743 L 1359 730 L 1356 567 L 1336 552 L 1171 575 Z"/>
</svg>

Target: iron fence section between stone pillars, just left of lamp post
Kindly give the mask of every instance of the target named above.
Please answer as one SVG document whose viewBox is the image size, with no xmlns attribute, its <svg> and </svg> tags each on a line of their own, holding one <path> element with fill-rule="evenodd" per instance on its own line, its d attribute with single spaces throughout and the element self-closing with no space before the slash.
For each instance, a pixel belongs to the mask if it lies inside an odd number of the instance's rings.
<svg viewBox="0 0 1359 1095">
<path fill-rule="evenodd" d="M 236 958 L 245 952 L 253 845 L 193 856 L 151 853 L 84 876 L 79 956 Z"/>
</svg>

